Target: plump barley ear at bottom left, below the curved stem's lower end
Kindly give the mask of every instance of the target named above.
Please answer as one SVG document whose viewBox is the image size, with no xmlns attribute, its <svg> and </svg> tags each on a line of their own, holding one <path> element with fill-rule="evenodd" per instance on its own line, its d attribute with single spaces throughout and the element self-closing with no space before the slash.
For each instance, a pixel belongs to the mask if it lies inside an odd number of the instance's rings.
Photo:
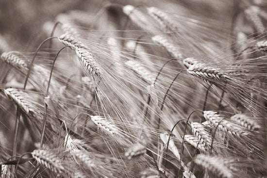
<svg viewBox="0 0 267 178">
<path fill-rule="evenodd" d="M 49 168 L 56 174 L 62 174 L 65 170 L 61 160 L 50 150 L 35 149 L 33 150 L 32 155 L 37 162 Z"/>
</svg>

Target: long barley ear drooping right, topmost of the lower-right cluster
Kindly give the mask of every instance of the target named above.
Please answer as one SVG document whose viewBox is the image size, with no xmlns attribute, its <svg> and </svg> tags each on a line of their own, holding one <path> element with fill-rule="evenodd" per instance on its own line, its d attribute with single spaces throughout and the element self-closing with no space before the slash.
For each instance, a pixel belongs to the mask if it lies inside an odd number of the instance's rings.
<svg viewBox="0 0 267 178">
<path fill-rule="evenodd" d="M 217 114 L 217 112 L 204 111 L 203 115 L 204 115 L 206 120 L 211 122 L 213 127 L 217 127 L 217 125 L 219 124 L 218 129 L 225 132 L 225 133 L 229 133 L 229 134 L 234 135 L 234 136 L 247 135 L 247 132 L 236 127 L 236 125 L 234 125 L 234 123 L 231 123 L 228 120 L 223 120 L 223 117 L 221 117 L 219 114 Z"/>
</svg>

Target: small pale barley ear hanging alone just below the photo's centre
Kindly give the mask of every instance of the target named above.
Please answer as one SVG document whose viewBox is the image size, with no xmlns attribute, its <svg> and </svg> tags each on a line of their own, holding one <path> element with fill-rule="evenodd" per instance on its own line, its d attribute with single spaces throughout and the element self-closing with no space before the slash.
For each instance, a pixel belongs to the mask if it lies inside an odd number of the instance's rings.
<svg viewBox="0 0 267 178">
<path fill-rule="evenodd" d="M 109 134 L 118 133 L 118 128 L 112 124 L 110 121 L 106 120 L 104 117 L 99 115 L 91 115 L 91 120 L 100 128 L 102 131 Z"/>
</svg>

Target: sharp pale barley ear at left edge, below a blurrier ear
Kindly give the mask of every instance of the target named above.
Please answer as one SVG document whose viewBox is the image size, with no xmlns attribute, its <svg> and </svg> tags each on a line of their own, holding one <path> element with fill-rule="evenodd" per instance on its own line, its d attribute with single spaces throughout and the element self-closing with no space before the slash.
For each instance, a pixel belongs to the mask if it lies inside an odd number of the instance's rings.
<svg viewBox="0 0 267 178">
<path fill-rule="evenodd" d="M 34 113 L 33 103 L 30 102 L 30 96 L 26 92 L 14 88 L 7 88 L 4 90 L 4 93 L 28 115 Z"/>
</svg>

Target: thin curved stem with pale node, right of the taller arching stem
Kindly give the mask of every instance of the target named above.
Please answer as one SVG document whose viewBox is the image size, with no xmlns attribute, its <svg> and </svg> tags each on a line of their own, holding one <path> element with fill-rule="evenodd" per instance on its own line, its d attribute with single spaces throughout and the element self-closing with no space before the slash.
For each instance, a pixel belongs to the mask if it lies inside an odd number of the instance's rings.
<svg viewBox="0 0 267 178">
<path fill-rule="evenodd" d="M 52 64 L 52 68 L 51 68 L 51 71 L 50 71 L 50 77 L 49 77 L 49 81 L 48 81 L 48 86 L 47 86 L 47 92 L 46 92 L 46 97 L 48 97 L 48 93 L 49 93 L 49 88 L 50 88 L 50 82 L 51 82 L 51 77 L 52 77 L 52 73 L 53 73 L 53 69 L 54 69 L 54 65 L 55 65 L 55 61 L 59 55 L 59 53 L 65 49 L 65 48 L 72 48 L 71 46 L 65 46 L 63 47 L 62 49 L 60 49 L 58 51 L 58 53 L 56 54 L 55 56 L 55 59 L 53 61 L 53 64 Z M 45 135 L 45 129 L 46 129 L 46 115 L 47 115 L 47 108 L 48 108 L 48 105 L 47 103 L 45 103 L 45 108 L 44 108 L 44 117 L 43 117 L 43 126 L 42 126 L 42 134 L 41 134 L 41 140 L 40 140 L 40 148 L 42 148 L 43 146 L 43 142 L 44 142 L 44 135 Z"/>
</svg>

